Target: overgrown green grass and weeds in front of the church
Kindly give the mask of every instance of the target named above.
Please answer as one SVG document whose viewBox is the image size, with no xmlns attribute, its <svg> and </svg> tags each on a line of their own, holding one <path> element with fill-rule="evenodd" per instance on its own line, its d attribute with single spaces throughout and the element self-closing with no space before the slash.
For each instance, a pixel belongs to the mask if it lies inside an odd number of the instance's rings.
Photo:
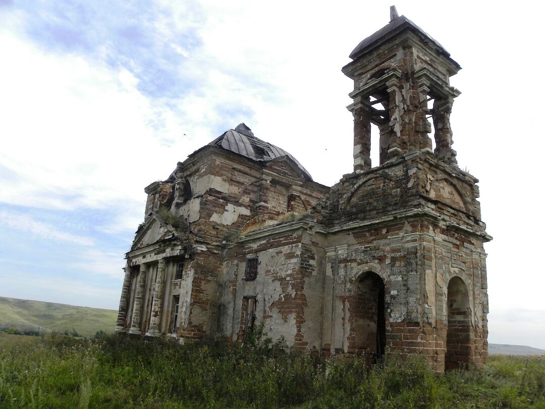
<svg viewBox="0 0 545 409">
<path fill-rule="evenodd" d="M 26 338 L 0 336 L 0 407 L 545 408 L 541 357 L 436 374 L 418 357 L 368 370 L 363 359 L 321 360 L 267 339 Z"/>
</svg>

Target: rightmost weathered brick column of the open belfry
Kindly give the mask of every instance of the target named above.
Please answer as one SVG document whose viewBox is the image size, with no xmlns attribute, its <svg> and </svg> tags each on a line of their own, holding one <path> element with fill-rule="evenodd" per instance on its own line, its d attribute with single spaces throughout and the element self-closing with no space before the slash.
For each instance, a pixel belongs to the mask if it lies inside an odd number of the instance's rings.
<svg viewBox="0 0 545 409">
<path fill-rule="evenodd" d="M 433 127 L 435 128 L 435 157 L 448 165 L 456 165 L 456 151 L 452 149 L 450 113 L 452 98 L 435 100 L 433 104 Z"/>
</svg>

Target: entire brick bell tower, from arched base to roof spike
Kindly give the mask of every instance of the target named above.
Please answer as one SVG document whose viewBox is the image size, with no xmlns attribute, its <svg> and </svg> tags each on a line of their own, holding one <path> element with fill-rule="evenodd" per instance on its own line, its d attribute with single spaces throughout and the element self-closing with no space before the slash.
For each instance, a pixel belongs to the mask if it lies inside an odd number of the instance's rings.
<svg viewBox="0 0 545 409">
<path fill-rule="evenodd" d="M 332 269 L 324 348 L 420 354 L 438 371 L 480 367 L 488 354 L 483 244 L 492 237 L 479 181 L 459 169 L 452 149 L 450 113 L 460 92 L 450 77 L 460 66 L 395 7 L 350 58 L 342 71 L 354 81 L 354 172 L 318 209 Z"/>
</svg>

